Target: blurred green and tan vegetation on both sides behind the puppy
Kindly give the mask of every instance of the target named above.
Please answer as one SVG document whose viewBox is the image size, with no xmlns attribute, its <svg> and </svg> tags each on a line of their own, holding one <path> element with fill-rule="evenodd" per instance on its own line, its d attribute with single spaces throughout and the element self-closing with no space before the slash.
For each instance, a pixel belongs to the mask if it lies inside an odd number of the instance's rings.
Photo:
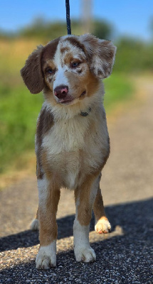
<svg viewBox="0 0 153 284">
<path fill-rule="evenodd" d="M 96 21 L 94 27 L 95 35 L 111 39 L 109 24 Z M 81 33 L 78 22 L 73 22 L 72 30 L 74 34 Z M 46 23 L 39 19 L 14 35 L 0 35 L 0 174 L 12 167 L 26 167 L 26 155 L 34 153 L 36 119 L 43 96 L 28 92 L 19 71 L 36 45 L 64 34 L 65 23 Z M 126 102 L 134 94 L 129 75 L 153 71 L 152 43 L 122 38 L 115 44 L 117 58 L 113 75 L 105 80 L 104 104 L 108 113 L 118 102 Z"/>
</svg>

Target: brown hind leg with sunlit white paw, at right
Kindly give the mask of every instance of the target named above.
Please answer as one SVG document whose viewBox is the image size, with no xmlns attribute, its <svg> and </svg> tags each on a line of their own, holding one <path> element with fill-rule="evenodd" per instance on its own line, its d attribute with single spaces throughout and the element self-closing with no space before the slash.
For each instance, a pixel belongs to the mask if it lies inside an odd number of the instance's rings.
<svg viewBox="0 0 153 284">
<path fill-rule="evenodd" d="M 99 234 L 107 234 L 111 230 L 111 225 L 105 214 L 100 186 L 97 189 L 93 212 L 95 214 L 95 231 Z"/>
</svg>

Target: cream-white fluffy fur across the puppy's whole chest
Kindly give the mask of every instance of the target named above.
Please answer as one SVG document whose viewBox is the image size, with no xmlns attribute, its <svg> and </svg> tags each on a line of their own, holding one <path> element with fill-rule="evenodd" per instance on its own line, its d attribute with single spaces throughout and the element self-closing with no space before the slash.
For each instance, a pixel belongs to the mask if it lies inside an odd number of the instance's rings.
<svg viewBox="0 0 153 284">
<path fill-rule="evenodd" d="M 102 163 L 102 148 L 107 148 L 107 126 L 100 118 L 102 115 L 91 113 L 56 121 L 43 138 L 42 148 L 50 169 L 60 173 L 63 186 L 74 188 L 80 170 L 88 174 Z"/>
</svg>

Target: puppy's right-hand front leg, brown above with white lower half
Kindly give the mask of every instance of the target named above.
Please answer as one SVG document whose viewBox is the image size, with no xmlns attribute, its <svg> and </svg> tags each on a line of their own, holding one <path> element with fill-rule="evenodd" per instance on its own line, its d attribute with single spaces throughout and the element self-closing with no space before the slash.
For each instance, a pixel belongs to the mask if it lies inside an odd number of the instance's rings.
<svg viewBox="0 0 153 284">
<path fill-rule="evenodd" d="M 98 177 L 88 177 L 83 185 L 75 190 L 76 214 L 73 234 L 76 261 L 91 262 L 96 260 L 95 251 L 90 247 L 89 230 L 98 184 Z"/>
</svg>

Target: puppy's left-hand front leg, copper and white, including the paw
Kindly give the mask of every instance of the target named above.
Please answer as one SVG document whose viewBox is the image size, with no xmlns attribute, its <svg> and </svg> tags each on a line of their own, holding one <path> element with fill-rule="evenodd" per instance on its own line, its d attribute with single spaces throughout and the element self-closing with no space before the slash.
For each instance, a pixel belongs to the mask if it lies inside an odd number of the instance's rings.
<svg viewBox="0 0 153 284">
<path fill-rule="evenodd" d="M 38 220 L 40 249 L 36 256 L 36 268 L 48 269 L 56 266 L 57 224 L 56 212 L 60 189 L 56 182 L 43 177 L 38 180 Z"/>
</svg>

